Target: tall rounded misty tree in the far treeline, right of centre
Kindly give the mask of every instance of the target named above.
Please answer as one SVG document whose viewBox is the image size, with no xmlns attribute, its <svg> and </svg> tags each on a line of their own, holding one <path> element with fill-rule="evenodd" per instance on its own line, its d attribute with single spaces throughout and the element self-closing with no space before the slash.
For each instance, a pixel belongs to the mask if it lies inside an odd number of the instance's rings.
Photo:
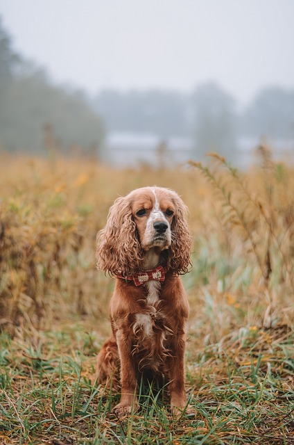
<svg viewBox="0 0 294 445">
<path fill-rule="evenodd" d="M 196 159 L 207 152 L 218 152 L 232 160 L 236 154 L 234 100 L 215 83 L 205 83 L 192 98 Z"/>
</svg>

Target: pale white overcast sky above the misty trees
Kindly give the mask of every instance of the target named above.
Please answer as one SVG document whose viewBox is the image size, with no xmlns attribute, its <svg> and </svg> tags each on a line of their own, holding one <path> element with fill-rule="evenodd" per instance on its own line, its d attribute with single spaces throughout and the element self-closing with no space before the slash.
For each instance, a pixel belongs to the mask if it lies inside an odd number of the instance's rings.
<svg viewBox="0 0 294 445">
<path fill-rule="evenodd" d="M 0 0 L 0 15 L 17 51 L 90 93 L 294 88 L 294 0 Z"/>
</svg>

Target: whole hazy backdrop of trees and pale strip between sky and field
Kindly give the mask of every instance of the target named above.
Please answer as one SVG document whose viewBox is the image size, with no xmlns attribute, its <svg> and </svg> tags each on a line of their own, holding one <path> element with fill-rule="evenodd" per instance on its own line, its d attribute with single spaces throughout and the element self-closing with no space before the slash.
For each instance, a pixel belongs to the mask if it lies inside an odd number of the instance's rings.
<svg viewBox="0 0 294 445">
<path fill-rule="evenodd" d="M 112 165 L 201 160 L 218 152 L 241 168 L 266 140 L 278 155 L 293 154 L 294 89 L 265 86 L 246 106 L 214 81 L 189 93 L 108 89 L 96 95 L 58 86 L 46 70 L 12 49 L 0 29 L 0 146 L 42 154 L 48 145 L 71 156 L 95 155 Z"/>
</svg>

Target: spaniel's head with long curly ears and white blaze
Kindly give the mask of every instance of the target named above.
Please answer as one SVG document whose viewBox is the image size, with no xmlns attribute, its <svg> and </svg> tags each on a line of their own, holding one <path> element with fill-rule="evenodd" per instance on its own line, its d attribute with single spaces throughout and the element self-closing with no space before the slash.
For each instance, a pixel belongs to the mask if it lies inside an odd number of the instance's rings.
<svg viewBox="0 0 294 445">
<path fill-rule="evenodd" d="M 191 235 L 187 207 L 177 193 L 162 187 L 143 187 L 119 197 L 97 235 L 97 266 L 112 275 L 138 272 L 152 248 L 167 251 L 166 266 L 187 273 Z"/>
</svg>

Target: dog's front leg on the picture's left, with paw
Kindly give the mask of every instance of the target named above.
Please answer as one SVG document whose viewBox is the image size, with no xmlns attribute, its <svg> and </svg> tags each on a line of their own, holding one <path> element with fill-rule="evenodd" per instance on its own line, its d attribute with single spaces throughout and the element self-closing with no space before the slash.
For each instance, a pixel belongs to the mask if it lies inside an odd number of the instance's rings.
<svg viewBox="0 0 294 445">
<path fill-rule="evenodd" d="M 132 357 L 132 343 L 129 332 L 120 329 L 116 332 L 116 342 L 119 348 L 119 359 L 121 362 L 121 401 L 114 407 L 117 416 L 123 416 L 137 409 L 137 375 L 135 360 Z"/>
</svg>

